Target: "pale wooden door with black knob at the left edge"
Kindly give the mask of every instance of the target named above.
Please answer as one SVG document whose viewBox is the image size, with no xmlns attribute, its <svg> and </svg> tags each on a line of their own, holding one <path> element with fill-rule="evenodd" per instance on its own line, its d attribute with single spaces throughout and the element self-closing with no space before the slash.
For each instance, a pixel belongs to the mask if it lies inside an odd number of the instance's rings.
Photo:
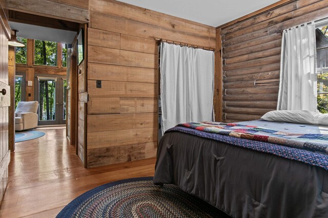
<svg viewBox="0 0 328 218">
<path fill-rule="evenodd" d="M 10 27 L 5 0 L 0 0 L 0 202 L 8 183 L 8 107 L 10 106 L 10 87 L 8 85 L 8 39 Z"/>
</svg>

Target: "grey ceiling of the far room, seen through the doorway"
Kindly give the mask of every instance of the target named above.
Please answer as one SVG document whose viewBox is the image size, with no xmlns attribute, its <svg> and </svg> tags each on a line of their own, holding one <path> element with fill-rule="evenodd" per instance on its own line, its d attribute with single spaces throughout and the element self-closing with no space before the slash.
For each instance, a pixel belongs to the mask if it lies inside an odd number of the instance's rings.
<svg viewBox="0 0 328 218">
<path fill-rule="evenodd" d="M 77 32 L 9 21 L 12 30 L 18 30 L 17 37 L 72 44 Z"/>
</svg>

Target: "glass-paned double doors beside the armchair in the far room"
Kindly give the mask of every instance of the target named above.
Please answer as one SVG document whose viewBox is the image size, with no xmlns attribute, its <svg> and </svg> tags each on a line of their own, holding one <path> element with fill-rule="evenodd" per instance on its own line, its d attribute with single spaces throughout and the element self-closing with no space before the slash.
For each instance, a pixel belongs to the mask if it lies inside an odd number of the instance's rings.
<svg viewBox="0 0 328 218">
<path fill-rule="evenodd" d="M 66 124 L 66 76 L 35 75 L 38 126 Z"/>
</svg>

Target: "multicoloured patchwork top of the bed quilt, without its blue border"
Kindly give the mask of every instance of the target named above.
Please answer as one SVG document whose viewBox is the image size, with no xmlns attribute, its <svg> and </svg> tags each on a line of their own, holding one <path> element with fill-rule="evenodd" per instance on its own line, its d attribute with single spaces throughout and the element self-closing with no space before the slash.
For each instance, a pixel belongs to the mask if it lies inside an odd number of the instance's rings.
<svg viewBox="0 0 328 218">
<path fill-rule="evenodd" d="M 238 123 L 202 122 L 178 124 L 177 126 L 328 154 L 328 135 L 323 134 L 296 134 Z"/>
</svg>

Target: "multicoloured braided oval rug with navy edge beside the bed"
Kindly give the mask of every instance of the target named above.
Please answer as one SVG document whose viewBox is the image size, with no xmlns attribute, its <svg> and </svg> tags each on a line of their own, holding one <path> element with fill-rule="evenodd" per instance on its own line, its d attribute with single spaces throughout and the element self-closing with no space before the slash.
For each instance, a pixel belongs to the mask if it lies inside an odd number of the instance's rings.
<svg viewBox="0 0 328 218">
<path fill-rule="evenodd" d="M 91 189 L 69 203 L 57 217 L 227 217 L 176 185 L 160 187 L 152 179 L 126 179 Z"/>
</svg>

